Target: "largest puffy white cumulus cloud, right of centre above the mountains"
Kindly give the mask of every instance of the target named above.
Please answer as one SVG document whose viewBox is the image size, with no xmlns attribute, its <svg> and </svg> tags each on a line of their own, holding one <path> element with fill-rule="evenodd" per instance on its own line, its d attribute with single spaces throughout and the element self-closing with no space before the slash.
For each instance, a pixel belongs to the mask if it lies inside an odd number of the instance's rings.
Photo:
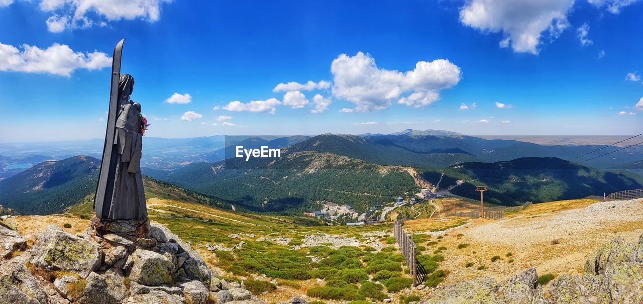
<svg viewBox="0 0 643 304">
<path fill-rule="evenodd" d="M 439 99 L 440 90 L 458 84 L 461 74 L 446 59 L 420 61 L 404 73 L 380 69 L 373 57 L 362 52 L 332 60 L 331 73 L 334 96 L 355 103 L 355 110 L 361 112 L 386 109 L 392 100 L 413 107 L 428 105 Z"/>
</svg>

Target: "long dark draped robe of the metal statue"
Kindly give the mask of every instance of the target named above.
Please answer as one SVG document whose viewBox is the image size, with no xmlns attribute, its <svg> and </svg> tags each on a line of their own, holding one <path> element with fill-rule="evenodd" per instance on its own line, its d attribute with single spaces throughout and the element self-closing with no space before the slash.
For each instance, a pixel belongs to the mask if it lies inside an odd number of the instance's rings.
<svg viewBox="0 0 643 304">
<path fill-rule="evenodd" d="M 140 112 L 129 100 L 122 100 L 116 118 L 116 132 L 108 170 L 113 184 L 105 183 L 111 191 L 105 192 L 102 206 L 96 204 L 96 216 L 101 219 L 144 219 L 147 217 L 143 179 L 141 177 L 141 119 Z M 111 181 L 111 180 L 110 180 Z M 110 185 L 111 184 L 111 185 Z M 99 183 L 100 187 L 102 183 Z M 109 195 L 111 192 L 111 195 Z M 100 213 L 99 213 L 100 212 Z"/>
</svg>

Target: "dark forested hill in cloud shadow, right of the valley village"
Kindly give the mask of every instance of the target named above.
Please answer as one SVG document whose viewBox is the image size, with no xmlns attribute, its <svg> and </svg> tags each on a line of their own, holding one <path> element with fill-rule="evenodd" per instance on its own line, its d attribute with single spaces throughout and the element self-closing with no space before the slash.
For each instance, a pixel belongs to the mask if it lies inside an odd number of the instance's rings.
<svg viewBox="0 0 643 304">
<path fill-rule="evenodd" d="M 554 166 L 556 165 L 556 166 Z M 541 169 L 554 166 L 548 170 Z M 440 172 L 427 171 L 424 177 L 432 181 Z M 505 206 L 526 201 L 548 202 L 577 199 L 619 190 L 643 188 L 642 179 L 631 172 L 604 171 L 557 159 L 556 157 L 523 157 L 497 163 L 464 163 L 444 169 L 440 188 L 466 183 L 451 193 L 478 199 L 475 186 L 494 185 L 484 193 L 485 202 Z M 527 174 L 532 174 L 523 177 Z"/>
</svg>

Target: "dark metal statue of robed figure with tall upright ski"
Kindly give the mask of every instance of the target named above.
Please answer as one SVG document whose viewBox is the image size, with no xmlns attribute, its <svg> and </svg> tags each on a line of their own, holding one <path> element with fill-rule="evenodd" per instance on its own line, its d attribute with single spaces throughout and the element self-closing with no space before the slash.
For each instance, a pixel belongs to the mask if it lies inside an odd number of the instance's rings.
<svg viewBox="0 0 643 304">
<path fill-rule="evenodd" d="M 123 40 L 114 49 L 107 131 L 94 201 L 98 219 L 147 218 L 140 168 L 147 121 L 141 116 L 141 105 L 129 99 L 134 78 L 120 74 Z"/>
</svg>

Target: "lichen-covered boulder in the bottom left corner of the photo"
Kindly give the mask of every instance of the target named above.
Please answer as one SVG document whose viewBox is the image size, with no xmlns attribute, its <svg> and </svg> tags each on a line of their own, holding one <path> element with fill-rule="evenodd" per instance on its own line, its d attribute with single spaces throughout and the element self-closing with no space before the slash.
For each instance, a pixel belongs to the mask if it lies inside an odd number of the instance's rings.
<svg viewBox="0 0 643 304">
<path fill-rule="evenodd" d="M 0 303 L 47 303 L 46 292 L 25 262 L 24 258 L 14 258 L 0 265 Z"/>
</svg>

